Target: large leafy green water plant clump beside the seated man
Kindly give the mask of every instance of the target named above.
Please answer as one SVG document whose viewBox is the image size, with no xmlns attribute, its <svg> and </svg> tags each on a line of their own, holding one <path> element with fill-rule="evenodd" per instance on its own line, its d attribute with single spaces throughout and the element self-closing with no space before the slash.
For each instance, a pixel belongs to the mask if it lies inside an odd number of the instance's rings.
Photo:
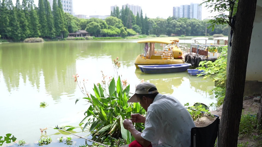
<svg viewBox="0 0 262 147">
<path fill-rule="evenodd" d="M 93 139 L 102 140 L 106 138 L 125 139 L 126 143 L 131 142 L 131 134 L 124 129 L 122 122 L 126 118 L 130 118 L 132 113 L 146 114 L 146 111 L 139 105 L 139 103 L 127 103 L 129 98 L 130 86 L 127 85 L 126 80 L 122 85 L 120 77 L 117 82 L 115 78 L 109 82 L 108 89 L 104 88 L 98 83 L 94 84 L 94 94 L 87 94 L 86 98 L 91 105 L 89 105 L 85 112 L 85 118 L 80 122 L 83 125 L 83 130 L 89 129 Z M 81 86 L 86 87 L 86 86 Z M 106 87 L 106 86 L 105 86 Z M 82 90 L 83 91 L 83 90 Z M 79 99 L 76 100 L 76 103 Z M 143 124 L 137 123 L 135 126 L 143 129 Z M 114 140 L 112 144 L 114 143 Z"/>
</svg>

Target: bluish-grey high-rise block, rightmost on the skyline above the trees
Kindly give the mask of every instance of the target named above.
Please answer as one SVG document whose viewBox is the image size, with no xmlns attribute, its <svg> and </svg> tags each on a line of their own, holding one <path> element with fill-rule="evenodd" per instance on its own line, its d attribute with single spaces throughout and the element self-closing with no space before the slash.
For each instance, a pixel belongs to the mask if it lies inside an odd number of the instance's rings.
<svg viewBox="0 0 262 147">
<path fill-rule="evenodd" d="M 190 3 L 190 5 L 173 7 L 173 16 L 176 18 L 194 18 L 202 20 L 202 6 L 198 3 Z"/>
</svg>

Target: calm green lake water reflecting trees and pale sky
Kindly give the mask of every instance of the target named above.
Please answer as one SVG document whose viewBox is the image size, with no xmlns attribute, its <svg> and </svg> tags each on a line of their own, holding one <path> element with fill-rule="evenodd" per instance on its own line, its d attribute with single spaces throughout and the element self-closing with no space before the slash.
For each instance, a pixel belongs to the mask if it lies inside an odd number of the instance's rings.
<svg viewBox="0 0 262 147">
<path fill-rule="evenodd" d="M 25 140 L 27 146 L 35 147 L 44 137 L 52 138 L 50 147 L 69 147 L 57 143 L 57 138 L 68 136 L 74 141 L 71 146 L 85 144 L 84 139 L 76 139 L 53 128 L 56 125 L 79 126 L 85 117 L 88 104 L 84 100 L 75 104 L 75 100 L 84 95 L 72 75 L 78 74 L 80 81 L 87 80 L 87 91 L 92 93 L 93 84 L 101 83 L 103 79 L 101 71 L 106 78 L 116 77 L 113 61 L 116 57 L 121 65 L 117 73 L 130 84 L 130 92 L 134 92 L 135 86 L 144 80 L 182 104 L 216 102 L 214 96 L 207 93 L 214 87 L 210 79 L 191 76 L 187 72 L 141 73 L 134 62 L 142 50 L 143 45 L 136 40 L 0 44 L 0 136 L 11 133 L 17 141 Z M 41 108 L 41 102 L 48 105 Z M 47 128 L 46 133 L 41 133 L 40 128 Z M 78 128 L 72 133 L 85 136 L 88 130 L 82 132 Z"/>
</svg>

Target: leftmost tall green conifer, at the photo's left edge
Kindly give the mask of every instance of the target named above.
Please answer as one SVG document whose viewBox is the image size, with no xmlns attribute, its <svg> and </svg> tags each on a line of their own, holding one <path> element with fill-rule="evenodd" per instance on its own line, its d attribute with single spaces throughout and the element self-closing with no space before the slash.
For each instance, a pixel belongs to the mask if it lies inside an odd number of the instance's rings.
<svg viewBox="0 0 262 147">
<path fill-rule="evenodd" d="M 0 4 L 0 12 L 0 34 L 2 38 L 6 39 L 9 36 L 10 27 L 8 26 L 9 18 L 5 0 L 2 0 Z"/>
</svg>

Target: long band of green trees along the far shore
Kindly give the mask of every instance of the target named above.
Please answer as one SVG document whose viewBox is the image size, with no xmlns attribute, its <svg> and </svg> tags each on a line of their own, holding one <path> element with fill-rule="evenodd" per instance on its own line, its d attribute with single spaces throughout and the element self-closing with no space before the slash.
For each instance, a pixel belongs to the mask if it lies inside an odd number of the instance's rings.
<svg viewBox="0 0 262 147">
<path fill-rule="evenodd" d="M 185 35 L 203 36 L 207 20 L 175 18 L 145 18 L 143 12 L 134 16 L 127 7 L 116 7 L 105 20 L 91 18 L 79 19 L 63 12 L 61 0 L 54 0 L 51 6 L 48 0 L 39 0 L 38 7 L 33 0 L 0 0 L 0 35 L 3 39 L 21 41 L 31 37 L 45 39 L 66 38 L 69 33 L 86 30 L 95 37 L 125 37 L 137 34 L 145 35 Z M 207 35 L 228 35 L 228 25 L 217 25 L 214 30 L 206 30 Z"/>
</svg>

